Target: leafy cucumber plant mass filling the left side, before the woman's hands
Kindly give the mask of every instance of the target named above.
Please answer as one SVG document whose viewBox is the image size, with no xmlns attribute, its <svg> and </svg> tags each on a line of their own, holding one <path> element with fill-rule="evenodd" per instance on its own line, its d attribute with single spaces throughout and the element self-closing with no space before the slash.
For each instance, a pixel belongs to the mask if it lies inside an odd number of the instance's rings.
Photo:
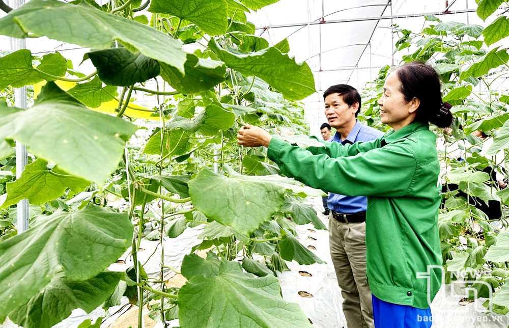
<svg viewBox="0 0 509 328">
<path fill-rule="evenodd" d="M 306 132 L 298 100 L 315 92 L 312 72 L 288 56 L 288 41 L 254 36 L 246 18 L 273 2 L 32 0 L 0 19 L 2 35 L 91 48 L 83 60 L 96 68 L 79 72 L 59 52 L 0 58 L 3 171 L 14 169 L 15 142 L 32 154 L 0 190 L 0 322 L 49 328 L 73 309 L 107 310 L 126 295 L 139 308 L 157 300 L 149 315 L 165 325 L 310 325 L 282 299 L 275 275 L 285 261 L 323 263 L 295 232 L 310 222 L 326 229 L 305 201 L 322 192 L 277 175 L 263 149 L 236 143 L 245 123 Z M 197 50 L 184 51 L 189 44 Z M 22 86 L 34 86 L 27 110 L 8 96 Z M 142 95 L 157 105 L 136 105 Z M 16 235 L 14 206 L 25 198 L 30 229 Z M 162 251 L 159 277 L 147 276 L 142 238 L 200 225 L 203 241 L 180 269 L 184 286 L 166 286 L 177 271 L 164 263 L 172 250 Z M 126 251 L 133 267 L 108 271 Z"/>
</svg>

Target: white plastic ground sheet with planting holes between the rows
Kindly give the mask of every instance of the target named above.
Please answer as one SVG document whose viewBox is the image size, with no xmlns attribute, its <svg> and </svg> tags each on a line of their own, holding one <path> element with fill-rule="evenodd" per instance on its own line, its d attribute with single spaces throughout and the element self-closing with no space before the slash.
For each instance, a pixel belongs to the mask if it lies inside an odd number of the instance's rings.
<svg viewBox="0 0 509 328">
<path fill-rule="evenodd" d="M 321 214 L 321 211 L 323 211 L 322 200 L 317 197 L 313 201 L 319 217 L 327 225 L 328 218 Z M 203 227 L 186 229 L 177 238 L 165 238 L 165 263 L 174 268 L 180 268 L 184 255 L 189 254 L 192 246 L 199 243 L 196 237 L 201 233 L 202 229 Z M 308 229 L 315 230 L 315 232 Z M 310 224 L 297 226 L 297 232 L 299 234 L 299 241 L 306 247 L 313 245 L 316 251 L 312 252 L 315 252 L 327 264 L 299 265 L 295 261 L 287 263 L 291 271 L 285 271 L 278 275 L 283 298 L 289 302 L 298 303 L 307 317 L 313 322 L 314 327 L 346 328 L 345 316 L 341 308 L 343 298 L 341 297 L 340 288 L 337 286 L 334 268 L 329 255 L 328 232 L 317 230 Z M 313 240 L 310 237 L 317 240 Z M 157 277 L 159 275 L 159 262 L 161 259 L 159 241 L 144 239 L 142 240 L 141 248 L 144 249 L 138 255 L 141 263 L 144 263 L 155 250 L 155 254 L 145 265 L 145 269 L 150 277 Z M 121 260 L 125 260 L 126 264 L 112 264 L 109 269 L 122 271 L 132 265 L 129 252 L 126 252 Z M 312 277 L 301 276 L 299 271 L 308 272 Z M 167 271 L 165 278 L 171 278 L 174 275 L 172 271 Z M 442 289 L 433 301 L 431 306 L 434 321 L 433 328 L 506 328 L 509 325 L 509 314 L 502 316 L 485 313 L 482 306 L 485 299 L 462 306 L 459 305 L 459 300 L 465 297 L 464 289 L 460 286 L 453 288 L 453 292 L 450 292 L 449 289 L 451 288 L 442 286 Z M 313 297 L 301 297 L 299 295 L 301 291 L 312 294 Z M 120 306 L 110 308 L 110 316 L 102 320 L 101 328 L 108 327 L 130 307 L 127 298 L 123 297 Z M 102 316 L 104 316 L 104 310 L 101 308 L 94 310 L 90 314 L 86 314 L 83 310 L 74 310 L 69 318 L 55 325 L 54 328 L 76 328 L 87 318 L 94 322 L 96 318 Z M 172 320 L 168 324 L 169 327 L 178 326 L 178 320 Z M 0 328 L 14 327 L 16 325 L 9 320 L 0 325 Z M 159 322 L 155 328 L 162 328 L 162 323 Z"/>
</svg>

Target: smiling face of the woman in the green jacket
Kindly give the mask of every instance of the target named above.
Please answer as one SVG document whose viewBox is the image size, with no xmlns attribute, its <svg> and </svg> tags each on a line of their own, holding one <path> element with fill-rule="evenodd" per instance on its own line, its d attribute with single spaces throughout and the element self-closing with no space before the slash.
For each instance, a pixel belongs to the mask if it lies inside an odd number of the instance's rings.
<svg viewBox="0 0 509 328">
<path fill-rule="evenodd" d="M 417 98 L 406 101 L 400 91 L 400 86 L 396 72 L 390 73 L 383 86 L 384 93 L 378 99 L 382 123 L 392 127 L 394 131 L 413 122 L 420 104 L 420 100 Z"/>
</svg>

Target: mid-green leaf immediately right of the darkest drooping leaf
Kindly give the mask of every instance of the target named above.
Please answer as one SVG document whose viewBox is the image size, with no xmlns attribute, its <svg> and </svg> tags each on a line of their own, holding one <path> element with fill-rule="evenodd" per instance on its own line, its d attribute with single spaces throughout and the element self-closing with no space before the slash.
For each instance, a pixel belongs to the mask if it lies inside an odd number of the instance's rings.
<svg viewBox="0 0 509 328">
<path fill-rule="evenodd" d="M 185 75 L 176 68 L 160 63 L 161 77 L 175 90 L 183 94 L 208 90 L 225 79 L 226 65 L 223 62 L 203 59 L 187 54 Z"/>
</svg>

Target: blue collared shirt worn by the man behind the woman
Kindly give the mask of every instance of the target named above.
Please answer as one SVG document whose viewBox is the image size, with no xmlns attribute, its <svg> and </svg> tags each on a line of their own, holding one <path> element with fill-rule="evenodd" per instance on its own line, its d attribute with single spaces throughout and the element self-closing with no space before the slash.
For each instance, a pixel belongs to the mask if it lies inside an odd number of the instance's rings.
<svg viewBox="0 0 509 328">
<path fill-rule="evenodd" d="M 345 144 L 353 144 L 358 141 L 371 141 L 379 138 L 384 133 L 374 129 L 372 127 L 362 125 L 359 120 L 353 127 L 350 134 L 348 134 L 347 139 L 341 140 L 341 134 L 336 132 L 334 136 L 329 139 L 329 142 L 338 142 L 342 145 Z M 338 181 L 338 183 L 341 183 Z M 357 213 L 363 212 L 367 208 L 367 198 L 364 196 L 344 196 L 329 193 L 329 198 L 327 199 L 327 207 L 330 210 L 333 210 L 338 213 Z"/>
</svg>

